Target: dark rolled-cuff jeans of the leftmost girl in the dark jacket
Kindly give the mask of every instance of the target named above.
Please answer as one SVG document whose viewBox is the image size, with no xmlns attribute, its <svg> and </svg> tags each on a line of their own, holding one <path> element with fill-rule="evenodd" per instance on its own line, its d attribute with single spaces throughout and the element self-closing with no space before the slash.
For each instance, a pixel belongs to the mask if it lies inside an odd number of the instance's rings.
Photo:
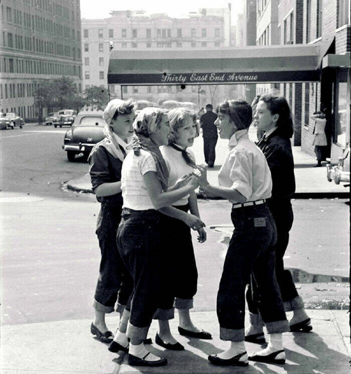
<svg viewBox="0 0 351 374">
<path fill-rule="evenodd" d="M 121 211 L 120 205 L 102 203 L 97 220 L 101 261 L 93 306 L 105 313 L 113 312 L 116 301 L 126 305 L 133 287 L 116 245 Z"/>
</svg>

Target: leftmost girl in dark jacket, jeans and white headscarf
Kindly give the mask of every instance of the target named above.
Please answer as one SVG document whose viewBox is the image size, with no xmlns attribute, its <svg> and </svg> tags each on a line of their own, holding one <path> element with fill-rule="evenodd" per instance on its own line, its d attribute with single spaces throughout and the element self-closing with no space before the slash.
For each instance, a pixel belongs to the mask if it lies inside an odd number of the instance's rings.
<svg viewBox="0 0 351 374">
<path fill-rule="evenodd" d="M 115 310 L 117 298 L 117 311 L 122 313 L 132 291 L 132 280 L 117 250 L 116 233 L 123 204 L 122 162 L 126 156 L 126 142 L 133 134 L 134 117 L 131 100 L 110 101 L 103 113 L 106 137 L 94 145 L 88 158 L 92 189 L 101 203 L 96 229 L 101 260 L 91 333 L 103 343 L 111 343 L 113 339 L 113 333 L 106 326 L 105 314 Z"/>
</svg>

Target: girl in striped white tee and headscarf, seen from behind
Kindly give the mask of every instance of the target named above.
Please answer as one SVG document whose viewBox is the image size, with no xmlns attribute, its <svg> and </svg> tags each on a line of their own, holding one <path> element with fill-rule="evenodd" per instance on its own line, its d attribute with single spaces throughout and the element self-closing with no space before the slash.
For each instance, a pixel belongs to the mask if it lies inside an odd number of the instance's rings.
<svg viewBox="0 0 351 374">
<path fill-rule="evenodd" d="M 143 344 L 152 317 L 162 298 L 159 258 L 162 251 L 160 222 L 165 214 L 183 219 L 194 230 L 202 221 L 170 205 L 197 186 L 187 175 L 170 191 L 169 173 L 160 145 L 168 144 L 170 124 L 159 108 L 144 108 L 133 123 L 133 148 L 122 166 L 122 219 L 117 230 L 117 247 L 133 280 L 133 298 L 126 336 L 130 338 L 128 363 L 132 366 L 161 366 L 167 360 L 150 353 Z M 178 188 L 179 187 L 179 188 Z M 127 342 L 127 340 L 126 340 Z M 127 345 L 125 346 L 127 348 Z"/>
</svg>

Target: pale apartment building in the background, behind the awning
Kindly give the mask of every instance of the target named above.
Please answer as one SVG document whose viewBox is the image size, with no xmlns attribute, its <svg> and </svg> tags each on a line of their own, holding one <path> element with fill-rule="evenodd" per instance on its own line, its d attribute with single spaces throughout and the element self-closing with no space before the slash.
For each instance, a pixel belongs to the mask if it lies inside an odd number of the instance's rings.
<svg viewBox="0 0 351 374">
<path fill-rule="evenodd" d="M 107 88 L 110 48 L 125 50 L 220 49 L 231 45 L 231 9 L 200 9 L 184 18 L 171 18 L 165 13 L 145 11 L 112 11 L 110 18 L 82 19 L 83 89 L 90 86 Z M 228 89 L 228 88 L 227 88 Z M 123 86 L 109 85 L 110 97 L 133 97 L 158 102 L 161 98 L 193 101 L 201 105 L 210 97 L 203 88 L 188 86 Z M 213 95 L 214 88 L 208 88 Z M 217 88 L 217 92 L 222 88 Z"/>
</svg>

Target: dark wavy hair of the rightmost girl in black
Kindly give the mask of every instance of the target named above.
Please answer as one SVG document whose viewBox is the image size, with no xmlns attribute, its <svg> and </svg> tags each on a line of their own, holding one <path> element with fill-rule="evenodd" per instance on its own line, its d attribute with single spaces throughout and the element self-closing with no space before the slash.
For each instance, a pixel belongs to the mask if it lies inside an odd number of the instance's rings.
<svg viewBox="0 0 351 374">
<path fill-rule="evenodd" d="M 280 135 L 284 138 L 291 138 L 294 133 L 294 123 L 286 98 L 284 96 L 266 94 L 260 97 L 260 101 L 267 104 L 267 108 L 271 114 L 279 114 L 277 127 Z"/>
</svg>

